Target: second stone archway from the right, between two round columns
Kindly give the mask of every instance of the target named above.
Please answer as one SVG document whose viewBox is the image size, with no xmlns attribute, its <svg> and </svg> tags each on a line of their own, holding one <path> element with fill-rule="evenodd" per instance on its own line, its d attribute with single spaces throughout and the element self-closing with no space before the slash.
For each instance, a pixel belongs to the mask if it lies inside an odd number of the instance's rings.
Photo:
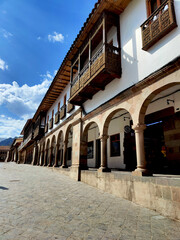
<svg viewBox="0 0 180 240">
<path fill-rule="evenodd" d="M 133 119 L 125 108 L 117 108 L 106 117 L 102 138 L 106 140 L 107 168 L 134 170 L 137 165 Z"/>
</svg>

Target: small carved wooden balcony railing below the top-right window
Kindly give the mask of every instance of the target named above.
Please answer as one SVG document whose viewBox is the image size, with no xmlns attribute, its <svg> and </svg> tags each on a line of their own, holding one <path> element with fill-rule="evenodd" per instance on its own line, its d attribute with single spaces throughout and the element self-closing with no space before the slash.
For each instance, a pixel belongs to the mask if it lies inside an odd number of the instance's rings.
<svg viewBox="0 0 180 240">
<path fill-rule="evenodd" d="M 148 50 L 177 26 L 173 0 L 166 0 L 141 25 L 142 49 Z"/>
</svg>

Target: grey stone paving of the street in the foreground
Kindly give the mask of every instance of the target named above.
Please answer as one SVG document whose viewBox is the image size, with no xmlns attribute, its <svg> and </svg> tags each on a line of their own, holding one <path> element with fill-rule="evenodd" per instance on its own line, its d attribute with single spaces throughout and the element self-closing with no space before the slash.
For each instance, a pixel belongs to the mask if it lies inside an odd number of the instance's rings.
<svg viewBox="0 0 180 240">
<path fill-rule="evenodd" d="M 51 168 L 0 163 L 0 240 L 180 240 L 180 222 Z"/>
</svg>

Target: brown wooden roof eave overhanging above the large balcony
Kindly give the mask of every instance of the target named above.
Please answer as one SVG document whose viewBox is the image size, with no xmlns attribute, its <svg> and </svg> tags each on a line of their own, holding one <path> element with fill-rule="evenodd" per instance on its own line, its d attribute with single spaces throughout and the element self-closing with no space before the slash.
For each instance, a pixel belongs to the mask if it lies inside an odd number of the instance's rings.
<svg viewBox="0 0 180 240">
<path fill-rule="evenodd" d="M 47 112 L 49 110 L 64 88 L 70 83 L 71 61 L 76 56 L 85 39 L 87 39 L 89 32 L 92 30 L 102 12 L 107 10 L 119 15 L 130 2 L 131 0 L 98 0 L 66 54 L 51 86 L 33 117 L 33 121 L 36 120 L 41 111 Z"/>
</svg>

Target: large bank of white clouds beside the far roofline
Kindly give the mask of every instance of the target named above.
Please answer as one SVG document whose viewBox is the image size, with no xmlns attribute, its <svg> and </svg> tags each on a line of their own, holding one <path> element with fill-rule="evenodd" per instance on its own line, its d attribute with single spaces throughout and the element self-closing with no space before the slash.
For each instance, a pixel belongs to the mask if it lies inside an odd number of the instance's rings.
<svg viewBox="0 0 180 240">
<path fill-rule="evenodd" d="M 34 86 L 19 86 L 15 81 L 12 84 L 0 84 L 0 106 L 5 105 L 11 113 L 21 119 L 31 118 L 53 79 L 53 75 L 48 71 L 41 77 L 42 83 Z"/>
</svg>

